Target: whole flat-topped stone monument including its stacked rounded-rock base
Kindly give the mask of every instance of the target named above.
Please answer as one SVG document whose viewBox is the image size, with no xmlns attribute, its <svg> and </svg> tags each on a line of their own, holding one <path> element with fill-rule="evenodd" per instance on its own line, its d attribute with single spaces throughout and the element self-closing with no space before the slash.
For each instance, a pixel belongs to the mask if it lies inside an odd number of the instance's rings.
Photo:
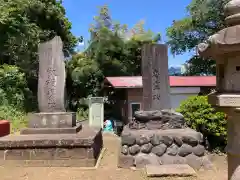
<svg viewBox="0 0 240 180">
<path fill-rule="evenodd" d="M 167 46 L 146 44 L 142 49 L 143 111 L 137 111 L 121 135 L 118 166 L 188 164 L 211 165 L 203 136 L 186 127 L 182 114 L 171 109 Z"/>
</svg>

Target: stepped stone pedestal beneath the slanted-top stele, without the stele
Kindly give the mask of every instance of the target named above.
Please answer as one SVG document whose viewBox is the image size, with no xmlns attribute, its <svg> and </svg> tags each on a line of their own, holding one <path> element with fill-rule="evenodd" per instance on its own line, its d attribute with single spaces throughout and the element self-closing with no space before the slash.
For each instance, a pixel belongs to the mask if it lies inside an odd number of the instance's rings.
<svg viewBox="0 0 240 180">
<path fill-rule="evenodd" d="M 76 113 L 28 116 L 21 135 L 0 138 L 0 164 L 93 167 L 103 146 L 101 128 L 76 123 Z"/>
</svg>

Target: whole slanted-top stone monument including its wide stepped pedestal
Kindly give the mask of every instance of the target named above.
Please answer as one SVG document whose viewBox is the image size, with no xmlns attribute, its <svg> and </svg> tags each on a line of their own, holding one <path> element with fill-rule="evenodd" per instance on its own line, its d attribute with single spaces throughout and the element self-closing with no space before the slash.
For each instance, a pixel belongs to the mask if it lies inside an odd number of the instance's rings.
<svg viewBox="0 0 240 180">
<path fill-rule="evenodd" d="M 76 123 L 65 110 L 65 63 L 60 37 L 39 46 L 39 113 L 29 114 L 20 135 L 0 138 L 0 161 L 27 166 L 95 166 L 101 128 Z"/>
</svg>

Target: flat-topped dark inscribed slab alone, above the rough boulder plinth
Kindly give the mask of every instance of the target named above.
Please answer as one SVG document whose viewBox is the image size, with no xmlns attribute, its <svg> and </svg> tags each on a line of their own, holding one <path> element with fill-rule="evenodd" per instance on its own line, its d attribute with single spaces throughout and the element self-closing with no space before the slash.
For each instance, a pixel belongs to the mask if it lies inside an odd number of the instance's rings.
<svg viewBox="0 0 240 180">
<path fill-rule="evenodd" d="M 143 110 L 171 109 L 167 46 L 146 44 L 142 49 Z M 153 57 L 154 56 L 154 57 Z M 161 96 L 163 95 L 164 96 Z M 149 98 L 151 97 L 151 98 Z"/>
</svg>

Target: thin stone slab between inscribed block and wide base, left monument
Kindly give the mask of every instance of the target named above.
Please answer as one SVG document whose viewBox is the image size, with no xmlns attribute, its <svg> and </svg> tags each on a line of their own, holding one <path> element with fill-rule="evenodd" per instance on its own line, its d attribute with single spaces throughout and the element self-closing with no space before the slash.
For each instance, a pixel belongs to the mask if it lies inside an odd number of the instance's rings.
<svg viewBox="0 0 240 180">
<path fill-rule="evenodd" d="M 82 124 L 69 128 L 25 128 L 20 134 L 76 134 L 82 129 Z"/>
</svg>

